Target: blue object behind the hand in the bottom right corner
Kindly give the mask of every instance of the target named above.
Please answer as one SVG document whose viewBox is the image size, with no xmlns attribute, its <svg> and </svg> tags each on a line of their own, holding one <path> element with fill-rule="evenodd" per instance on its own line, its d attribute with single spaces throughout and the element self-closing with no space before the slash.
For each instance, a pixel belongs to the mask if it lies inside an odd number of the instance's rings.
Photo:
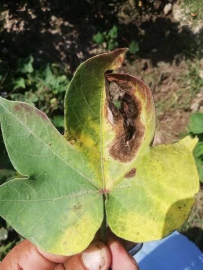
<svg viewBox="0 0 203 270">
<path fill-rule="evenodd" d="M 203 253 L 178 232 L 144 243 L 134 258 L 140 270 L 203 270 Z"/>
</svg>

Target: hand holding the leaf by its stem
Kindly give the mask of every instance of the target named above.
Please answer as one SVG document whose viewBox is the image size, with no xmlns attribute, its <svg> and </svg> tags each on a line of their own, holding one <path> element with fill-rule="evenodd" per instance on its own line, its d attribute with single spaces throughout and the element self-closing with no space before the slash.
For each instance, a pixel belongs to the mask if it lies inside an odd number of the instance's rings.
<svg viewBox="0 0 203 270">
<path fill-rule="evenodd" d="M 0 263 L 0 270 L 138 270 L 137 262 L 121 243 L 109 238 L 107 245 L 92 243 L 74 256 L 47 253 L 28 240 L 15 246 Z"/>
</svg>

